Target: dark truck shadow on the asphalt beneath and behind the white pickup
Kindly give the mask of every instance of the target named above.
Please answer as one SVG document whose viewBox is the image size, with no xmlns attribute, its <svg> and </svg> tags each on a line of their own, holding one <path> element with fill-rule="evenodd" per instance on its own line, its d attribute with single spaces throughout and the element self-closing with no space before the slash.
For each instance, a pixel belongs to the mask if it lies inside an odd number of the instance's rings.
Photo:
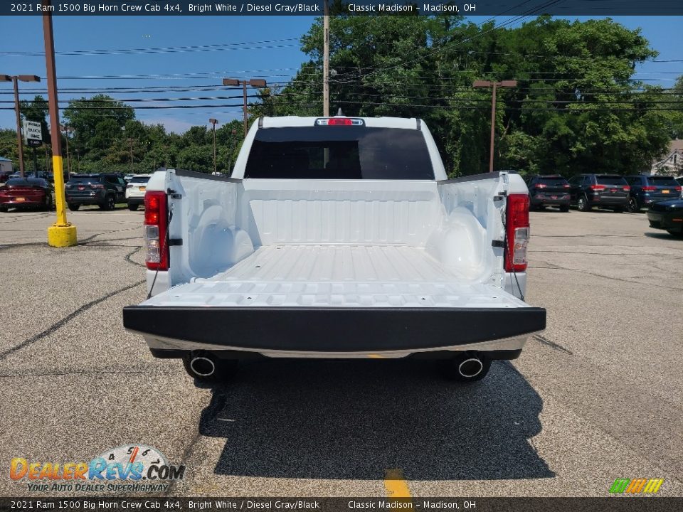
<svg viewBox="0 0 683 512">
<path fill-rule="evenodd" d="M 509 363 L 473 385 L 432 362 L 250 361 L 212 389 L 200 432 L 216 474 L 299 479 L 549 478 L 529 443 L 542 400 Z"/>
</svg>

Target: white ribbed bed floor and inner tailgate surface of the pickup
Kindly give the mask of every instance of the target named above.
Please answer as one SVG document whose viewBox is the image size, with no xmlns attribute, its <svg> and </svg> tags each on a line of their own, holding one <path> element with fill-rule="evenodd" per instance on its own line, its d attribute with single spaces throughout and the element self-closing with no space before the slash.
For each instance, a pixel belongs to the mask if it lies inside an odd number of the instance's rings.
<svg viewBox="0 0 683 512">
<path fill-rule="evenodd" d="M 157 306 L 520 307 L 463 279 L 422 247 L 269 245 L 226 272 L 152 297 Z"/>
</svg>

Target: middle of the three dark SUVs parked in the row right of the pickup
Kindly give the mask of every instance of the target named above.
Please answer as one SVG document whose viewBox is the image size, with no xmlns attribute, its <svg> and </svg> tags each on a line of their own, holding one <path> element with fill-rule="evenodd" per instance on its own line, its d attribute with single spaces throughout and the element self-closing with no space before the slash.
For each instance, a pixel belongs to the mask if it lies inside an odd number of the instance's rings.
<svg viewBox="0 0 683 512">
<path fill-rule="evenodd" d="M 571 203 L 579 211 L 593 206 L 623 212 L 628 205 L 628 183 L 618 174 L 579 174 L 569 180 Z"/>
</svg>

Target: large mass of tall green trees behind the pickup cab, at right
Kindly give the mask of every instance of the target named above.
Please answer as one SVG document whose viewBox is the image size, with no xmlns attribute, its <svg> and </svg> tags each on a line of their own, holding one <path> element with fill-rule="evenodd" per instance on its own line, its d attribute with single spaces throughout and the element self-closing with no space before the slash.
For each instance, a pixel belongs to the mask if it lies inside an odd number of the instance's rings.
<svg viewBox="0 0 683 512">
<path fill-rule="evenodd" d="M 637 172 L 679 133 L 673 107 L 632 79 L 657 52 L 610 18 L 539 16 L 504 28 L 457 16 L 335 16 L 330 26 L 332 112 L 425 119 L 451 175 L 488 169 L 491 90 L 473 90 L 475 79 L 518 81 L 497 96 L 497 169 Z M 309 61 L 254 113 L 322 114 L 321 19 L 302 45 Z"/>
</svg>

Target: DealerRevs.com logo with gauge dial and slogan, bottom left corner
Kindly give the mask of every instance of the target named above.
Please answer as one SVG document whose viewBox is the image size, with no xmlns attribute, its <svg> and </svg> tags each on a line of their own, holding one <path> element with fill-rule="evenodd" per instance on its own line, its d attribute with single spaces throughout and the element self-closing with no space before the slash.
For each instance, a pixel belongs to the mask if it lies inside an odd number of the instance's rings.
<svg viewBox="0 0 683 512">
<path fill-rule="evenodd" d="M 9 477 L 25 482 L 28 491 L 159 492 L 182 480 L 184 465 L 166 462 L 156 448 L 124 444 L 90 462 L 36 462 L 14 457 Z"/>
</svg>

